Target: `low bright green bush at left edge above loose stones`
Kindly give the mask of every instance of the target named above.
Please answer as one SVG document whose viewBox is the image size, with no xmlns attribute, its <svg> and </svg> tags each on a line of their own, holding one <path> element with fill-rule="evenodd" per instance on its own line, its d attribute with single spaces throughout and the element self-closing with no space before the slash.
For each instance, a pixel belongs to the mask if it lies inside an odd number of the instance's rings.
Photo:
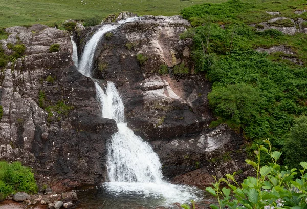
<svg viewBox="0 0 307 209">
<path fill-rule="evenodd" d="M 31 169 L 21 165 L 20 162 L 10 164 L 0 161 L 0 193 L 6 196 L 19 191 L 37 193 L 37 185 Z"/>
</svg>

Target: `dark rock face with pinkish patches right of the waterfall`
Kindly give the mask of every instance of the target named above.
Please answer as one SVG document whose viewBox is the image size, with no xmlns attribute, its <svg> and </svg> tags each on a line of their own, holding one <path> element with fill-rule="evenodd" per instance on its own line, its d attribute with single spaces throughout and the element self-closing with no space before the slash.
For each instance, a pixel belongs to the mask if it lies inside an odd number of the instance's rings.
<svg viewBox="0 0 307 209">
<path fill-rule="evenodd" d="M 244 144 L 243 136 L 224 125 L 209 128 L 215 118 L 204 75 L 174 74 L 178 65 L 193 71 L 191 40 L 179 38 L 187 27 L 179 16 L 144 16 L 120 26 L 98 44 L 93 74 L 115 83 L 128 126 L 152 144 L 166 178 L 208 185 L 211 175 L 248 168 L 244 152 L 235 153 Z M 88 39 L 88 31 L 97 29 L 87 28 L 76 39 Z M 144 62 L 139 54 L 146 57 Z M 161 66 L 167 69 L 165 75 L 159 74 Z"/>
</svg>

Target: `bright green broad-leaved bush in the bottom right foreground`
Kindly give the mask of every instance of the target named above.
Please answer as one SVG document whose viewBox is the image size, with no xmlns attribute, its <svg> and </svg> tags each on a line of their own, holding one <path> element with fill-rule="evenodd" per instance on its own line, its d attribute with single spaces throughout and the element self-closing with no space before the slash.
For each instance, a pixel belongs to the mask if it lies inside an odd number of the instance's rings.
<svg viewBox="0 0 307 209">
<path fill-rule="evenodd" d="M 282 170 L 277 163 L 281 156 L 280 152 L 272 152 L 271 144 L 264 141 L 269 149 L 260 145 L 254 151 L 258 163 L 251 160 L 246 162 L 253 166 L 256 177 L 247 177 L 243 183 L 238 184 L 235 180 L 236 172 L 226 174 L 225 178 L 216 179 L 213 187 L 207 187 L 206 191 L 218 200 L 217 205 L 211 208 L 265 208 L 265 206 L 282 208 L 305 208 L 307 207 L 307 163 L 301 162 L 303 167 L 300 171 L 301 178 L 295 179 L 297 169 Z M 269 154 L 271 163 L 260 167 L 260 151 Z M 228 188 L 221 187 L 220 183 L 226 183 Z M 230 194 L 234 194 L 232 198 Z"/>
</svg>

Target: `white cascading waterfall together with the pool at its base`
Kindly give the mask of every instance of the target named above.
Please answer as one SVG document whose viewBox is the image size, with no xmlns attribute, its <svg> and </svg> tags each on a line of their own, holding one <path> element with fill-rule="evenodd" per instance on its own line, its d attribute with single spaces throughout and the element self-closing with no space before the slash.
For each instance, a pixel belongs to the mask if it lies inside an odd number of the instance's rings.
<svg viewBox="0 0 307 209">
<path fill-rule="evenodd" d="M 79 63 L 78 57 L 73 55 L 78 70 L 91 78 L 93 57 L 99 40 L 105 33 L 121 24 L 137 20 L 140 19 L 134 17 L 116 24 L 103 25 L 85 45 Z M 76 54 L 75 44 L 74 53 Z M 118 132 L 113 134 L 111 141 L 107 144 L 108 182 L 95 190 L 95 194 L 85 192 L 89 194 L 84 195 L 86 196 L 84 201 L 87 201 L 86 208 L 137 208 L 139 206 L 153 208 L 159 205 L 168 206 L 175 202 L 189 202 L 192 199 L 200 200 L 203 195 L 201 190 L 187 185 L 170 184 L 163 180 L 158 155 L 153 152 L 150 144 L 144 142 L 127 127 L 124 120 L 124 105 L 114 83 L 108 81 L 107 85 L 101 88 L 99 82 L 93 80 L 97 101 L 101 107 L 101 116 L 114 119 L 117 122 Z M 82 196 L 83 193 L 80 194 Z M 92 203 L 93 207 L 90 207 Z"/>
</svg>

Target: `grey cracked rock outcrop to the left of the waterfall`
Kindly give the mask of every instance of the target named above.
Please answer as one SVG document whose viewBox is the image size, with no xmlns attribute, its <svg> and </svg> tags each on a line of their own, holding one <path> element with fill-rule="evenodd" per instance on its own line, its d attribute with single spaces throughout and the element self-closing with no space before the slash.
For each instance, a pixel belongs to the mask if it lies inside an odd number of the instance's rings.
<svg viewBox="0 0 307 209">
<path fill-rule="evenodd" d="M 70 35 L 43 25 L 6 31 L 6 53 L 7 43 L 24 44 L 26 52 L 2 72 L 0 159 L 31 166 L 47 184 L 104 181 L 105 142 L 117 126 L 99 117 L 93 81 L 72 63 Z M 55 43 L 59 52 L 50 53 Z"/>
</svg>

